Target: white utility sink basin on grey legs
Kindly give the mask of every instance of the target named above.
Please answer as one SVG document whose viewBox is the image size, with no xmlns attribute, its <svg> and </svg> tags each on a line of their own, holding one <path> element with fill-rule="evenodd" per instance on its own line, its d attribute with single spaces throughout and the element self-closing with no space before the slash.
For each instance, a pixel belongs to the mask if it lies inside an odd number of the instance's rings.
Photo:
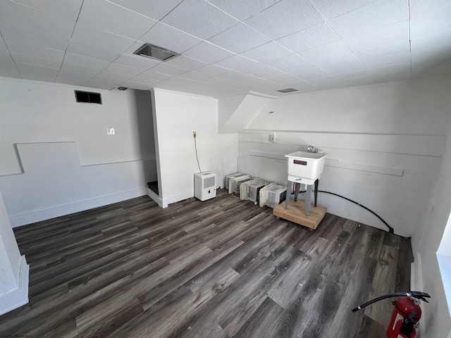
<svg viewBox="0 0 451 338">
<path fill-rule="evenodd" d="M 307 180 L 316 180 L 323 173 L 324 160 L 328 154 L 296 151 L 285 155 L 288 157 L 288 176 Z"/>
</svg>

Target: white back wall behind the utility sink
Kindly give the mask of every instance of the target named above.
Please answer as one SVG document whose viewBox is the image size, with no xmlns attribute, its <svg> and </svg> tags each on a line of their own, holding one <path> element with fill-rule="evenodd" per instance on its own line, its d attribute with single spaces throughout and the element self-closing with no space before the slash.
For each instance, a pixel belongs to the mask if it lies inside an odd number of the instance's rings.
<svg viewBox="0 0 451 338">
<path fill-rule="evenodd" d="M 249 156 L 249 151 L 289 154 L 312 144 L 336 164 L 326 165 L 320 189 L 354 199 L 381 215 L 396 234 L 412 236 L 426 220 L 445 149 L 450 84 L 450 77 L 438 77 L 274 99 L 240 132 L 238 169 L 285 184 L 285 161 Z M 276 144 L 268 140 L 271 132 L 277 134 Z M 387 174 L 400 171 L 402 176 Z M 386 229 L 344 199 L 319 194 L 319 204 Z"/>
</svg>

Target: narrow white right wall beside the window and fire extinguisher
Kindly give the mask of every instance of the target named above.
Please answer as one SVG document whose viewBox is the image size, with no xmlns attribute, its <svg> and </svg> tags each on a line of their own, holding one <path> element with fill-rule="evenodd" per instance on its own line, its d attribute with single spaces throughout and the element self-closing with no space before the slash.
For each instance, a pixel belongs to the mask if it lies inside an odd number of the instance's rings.
<svg viewBox="0 0 451 338">
<path fill-rule="evenodd" d="M 435 177 L 433 194 L 425 211 L 427 217 L 424 223 L 418 223 L 412 237 L 412 247 L 415 261 L 412 264 L 412 287 L 422 289 L 431 294 L 431 303 L 424 304 L 421 337 L 439 338 L 451 336 L 450 304 L 451 294 L 445 296 L 443 282 L 436 252 L 441 247 L 441 253 L 448 255 L 451 247 L 451 237 L 445 234 L 445 227 L 451 213 L 451 130 L 447 135 L 443 163 L 440 175 Z M 449 226 L 448 226 L 449 227 Z M 441 245 L 440 245 L 440 242 Z M 451 255 L 450 255 L 451 256 Z M 448 266 L 450 269 L 450 266 Z M 451 270 L 447 270 L 450 274 Z M 451 287 L 447 284 L 448 289 Z"/>
</svg>

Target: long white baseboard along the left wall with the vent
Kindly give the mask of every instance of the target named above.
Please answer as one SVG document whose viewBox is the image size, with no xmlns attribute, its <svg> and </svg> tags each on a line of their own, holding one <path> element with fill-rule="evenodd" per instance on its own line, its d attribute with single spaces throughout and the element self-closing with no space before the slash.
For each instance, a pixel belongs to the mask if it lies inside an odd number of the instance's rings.
<svg viewBox="0 0 451 338">
<path fill-rule="evenodd" d="M 118 192 L 116 194 L 99 196 L 94 199 L 86 199 L 85 201 L 65 204 L 63 206 L 55 206 L 54 208 L 10 216 L 9 220 L 11 221 L 12 227 L 20 227 L 22 225 L 49 220 L 51 218 L 69 215 L 70 213 L 78 213 L 80 211 L 98 208 L 99 206 L 107 206 L 109 204 L 125 201 L 127 199 L 135 199 L 136 197 L 145 195 L 147 195 L 147 187 L 140 187 L 126 192 Z"/>
</svg>

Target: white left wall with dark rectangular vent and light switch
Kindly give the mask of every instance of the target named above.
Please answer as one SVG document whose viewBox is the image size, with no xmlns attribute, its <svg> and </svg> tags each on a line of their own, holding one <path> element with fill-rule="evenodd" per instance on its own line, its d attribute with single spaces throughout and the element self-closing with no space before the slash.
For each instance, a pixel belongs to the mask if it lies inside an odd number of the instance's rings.
<svg viewBox="0 0 451 338">
<path fill-rule="evenodd" d="M 74 89 L 100 92 L 102 104 L 75 102 Z M 155 173 L 144 163 L 155 156 L 140 139 L 140 127 L 153 137 L 152 115 L 137 108 L 141 96 L 0 78 L 0 189 L 11 224 L 147 194 L 146 175 Z"/>
</svg>

